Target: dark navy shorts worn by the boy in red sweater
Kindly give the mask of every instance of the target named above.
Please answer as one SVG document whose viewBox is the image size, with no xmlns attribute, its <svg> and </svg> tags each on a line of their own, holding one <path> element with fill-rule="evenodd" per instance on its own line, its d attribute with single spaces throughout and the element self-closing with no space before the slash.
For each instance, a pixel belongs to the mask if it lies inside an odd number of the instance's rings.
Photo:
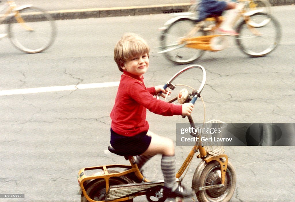
<svg viewBox="0 0 295 202">
<path fill-rule="evenodd" d="M 152 137 L 142 132 L 132 137 L 119 135 L 111 128 L 111 145 L 115 150 L 124 153 L 125 156 L 137 156 L 144 153 L 150 146 Z"/>
</svg>

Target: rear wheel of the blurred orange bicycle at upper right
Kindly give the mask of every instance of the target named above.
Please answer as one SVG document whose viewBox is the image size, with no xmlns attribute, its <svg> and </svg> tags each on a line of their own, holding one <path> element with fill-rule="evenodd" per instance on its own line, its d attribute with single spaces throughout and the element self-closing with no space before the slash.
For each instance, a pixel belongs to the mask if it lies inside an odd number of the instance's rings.
<svg viewBox="0 0 295 202">
<path fill-rule="evenodd" d="M 188 48 L 184 44 L 181 45 L 179 40 L 184 38 L 186 34 L 191 31 L 196 25 L 196 21 L 189 18 L 180 18 L 173 22 L 167 29 L 165 29 L 160 38 L 161 50 L 169 48 L 176 48 L 174 50 L 164 52 L 165 58 L 175 64 L 189 64 L 198 60 L 205 50 Z M 206 32 L 200 28 L 193 36 L 204 36 Z M 177 48 L 179 46 L 179 48 Z"/>
</svg>

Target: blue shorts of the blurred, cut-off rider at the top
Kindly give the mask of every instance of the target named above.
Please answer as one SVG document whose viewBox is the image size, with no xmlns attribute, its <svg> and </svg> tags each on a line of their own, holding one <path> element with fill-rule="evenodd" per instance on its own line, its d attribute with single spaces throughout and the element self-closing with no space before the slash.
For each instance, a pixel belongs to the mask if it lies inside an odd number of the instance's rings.
<svg viewBox="0 0 295 202">
<path fill-rule="evenodd" d="M 221 16 L 227 3 L 218 0 L 201 0 L 199 7 L 199 20 L 204 20 L 210 15 Z"/>
</svg>

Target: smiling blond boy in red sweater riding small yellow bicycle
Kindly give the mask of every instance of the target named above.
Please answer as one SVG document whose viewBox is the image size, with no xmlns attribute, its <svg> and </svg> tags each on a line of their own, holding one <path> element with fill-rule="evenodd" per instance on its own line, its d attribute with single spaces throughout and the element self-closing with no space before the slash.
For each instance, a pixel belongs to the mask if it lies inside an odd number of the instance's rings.
<svg viewBox="0 0 295 202">
<path fill-rule="evenodd" d="M 145 119 L 146 109 L 163 116 L 190 115 L 194 105 L 175 105 L 153 97 L 167 91 L 163 86 L 146 88 L 143 83 L 143 74 L 149 68 L 149 50 L 147 43 L 132 33 L 125 34 L 115 46 L 114 60 L 123 74 L 110 114 L 110 143 L 114 149 L 135 156 L 139 168 L 152 156 L 161 154 L 164 196 L 189 197 L 191 193 L 176 182 L 173 141 L 150 132 Z"/>
</svg>

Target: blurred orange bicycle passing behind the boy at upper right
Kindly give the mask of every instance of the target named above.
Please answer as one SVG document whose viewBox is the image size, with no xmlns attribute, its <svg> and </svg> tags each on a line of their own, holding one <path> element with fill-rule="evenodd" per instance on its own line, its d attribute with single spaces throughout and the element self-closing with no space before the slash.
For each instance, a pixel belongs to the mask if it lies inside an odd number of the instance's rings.
<svg viewBox="0 0 295 202">
<path fill-rule="evenodd" d="M 261 10 L 246 11 L 248 1 L 243 1 L 239 10 L 240 21 L 237 24 L 235 41 L 240 50 L 250 57 L 261 57 L 271 53 L 281 40 L 281 28 L 273 16 Z M 168 20 L 160 28 L 159 53 L 175 64 L 192 63 L 206 50 L 223 50 L 226 36 L 216 30 L 222 22 L 222 16 L 199 21 L 186 15 Z"/>
</svg>

